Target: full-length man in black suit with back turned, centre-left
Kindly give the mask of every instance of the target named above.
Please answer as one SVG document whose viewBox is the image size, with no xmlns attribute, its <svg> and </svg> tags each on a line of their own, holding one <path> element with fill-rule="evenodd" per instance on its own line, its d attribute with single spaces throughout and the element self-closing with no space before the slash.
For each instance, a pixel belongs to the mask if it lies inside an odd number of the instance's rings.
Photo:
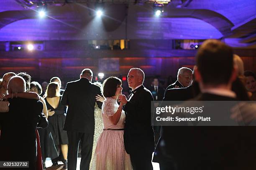
<svg viewBox="0 0 256 170">
<path fill-rule="evenodd" d="M 76 170 L 77 151 L 81 142 L 81 170 L 89 170 L 94 135 L 94 106 L 96 95 L 102 95 L 100 87 L 92 84 L 92 70 L 84 69 L 80 79 L 68 82 L 61 97 L 61 103 L 68 106 L 64 130 L 69 139 L 68 170 Z"/>
</svg>

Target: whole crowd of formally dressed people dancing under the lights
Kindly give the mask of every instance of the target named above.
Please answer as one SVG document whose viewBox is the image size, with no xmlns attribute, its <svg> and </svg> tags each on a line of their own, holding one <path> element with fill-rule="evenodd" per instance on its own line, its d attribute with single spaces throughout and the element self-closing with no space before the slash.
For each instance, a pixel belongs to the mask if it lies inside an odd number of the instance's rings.
<svg viewBox="0 0 256 170">
<path fill-rule="evenodd" d="M 62 161 L 64 169 L 76 170 L 80 148 L 81 170 L 153 170 L 152 153 L 160 170 L 256 168 L 254 127 L 151 124 L 151 101 L 256 100 L 255 74 L 244 71 L 241 58 L 223 42 L 206 40 L 194 70 L 181 67 L 166 89 L 158 78 L 144 87 L 140 68 L 128 72 L 129 96 L 118 77 L 102 85 L 92 77 L 86 68 L 63 90 L 59 77 L 40 85 L 26 72 L 3 75 L 0 97 L 9 111 L 0 109 L 0 160 L 29 161 L 29 169 L 41 170 L 51 158 L 53 166 Z M 256 117 L 250 108 L 248 121 Z M 244 118 L 230 119 L 239 116 Z"/>
</svg>

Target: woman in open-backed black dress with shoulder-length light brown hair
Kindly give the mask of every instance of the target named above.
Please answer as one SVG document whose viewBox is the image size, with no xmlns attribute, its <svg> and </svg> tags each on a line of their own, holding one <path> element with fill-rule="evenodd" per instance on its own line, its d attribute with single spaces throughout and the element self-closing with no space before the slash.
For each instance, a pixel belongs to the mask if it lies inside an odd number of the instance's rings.
<svg viewBox="0 0 256 170">
<path fill-rule="evenodd" d="M 68 138 L 63 130 L 65 122 L 65 106 L 61 104 L 60 87 L 57 82 L 49 83 L 46 89 L 46 106 L 48 108 L 49 127 L 54 138 L 55 145 L 60 146 L 63 155 L 64 169 L 67 169 Z"/>
</svg>

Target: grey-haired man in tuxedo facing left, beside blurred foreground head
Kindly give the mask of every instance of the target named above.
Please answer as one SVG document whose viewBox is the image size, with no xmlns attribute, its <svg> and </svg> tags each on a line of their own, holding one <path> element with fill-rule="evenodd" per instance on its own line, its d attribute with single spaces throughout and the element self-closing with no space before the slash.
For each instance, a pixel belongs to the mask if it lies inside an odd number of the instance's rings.
<svg viewBox="0 0 256 170">
<path fill-rule="evenodd" d="M 188 87 L 189 82 L 191 80 L 192 76 L 192 70 L 187 67 L 181 67 L 178 70 L 177 74 L 177 81 L 174 82 L 172 85 L 169 85 L 165 92 L 172 88 L 182 88 L 182 87 Z"/>
</svg>

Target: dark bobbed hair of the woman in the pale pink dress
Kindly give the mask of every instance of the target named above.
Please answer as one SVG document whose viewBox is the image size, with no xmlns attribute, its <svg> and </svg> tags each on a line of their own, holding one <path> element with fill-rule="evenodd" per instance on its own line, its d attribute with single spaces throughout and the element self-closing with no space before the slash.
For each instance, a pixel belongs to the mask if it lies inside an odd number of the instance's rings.
<svg viewBox="0 0 256 170">
<path fill-rule="evenodd" d="M 116 88 L 121 85 L 122 81 L 118 77 L 108 77 L 103 82 L 103 95 L 104 97 L 112 97 L 115 95 Z"/>
</svg>

